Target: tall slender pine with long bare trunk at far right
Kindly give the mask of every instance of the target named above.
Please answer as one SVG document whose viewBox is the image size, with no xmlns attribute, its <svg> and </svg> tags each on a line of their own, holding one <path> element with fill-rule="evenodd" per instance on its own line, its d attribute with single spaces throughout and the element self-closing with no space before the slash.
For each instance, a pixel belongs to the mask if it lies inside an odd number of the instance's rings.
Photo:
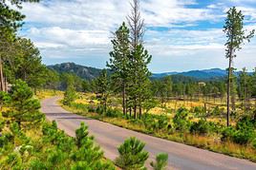
<svg viewBox="0 0 256 170">
<path fill-rule="evenodd" d="M 228 66 L 228 79 L 227 79 L 227 113 L 226 113 L 226 125 L 229 126 L 229 114 L 230 114 L 230 85 L 231 85 L 231 73 L 232 62 L 236 57 L 236 51 L 242 48 L 245 41 L 249 41 L 254 35 L 252 30 L 248 35 L 245 35 L 244 30 L 244 18 L 242 11 L 237 11 L 235 7 L 227 11 L 227 17 L 224 24 L 224 32 L 226 33 L 227 42 L 225 43 L 226 53 L 225 57 L 229 59 Z"/>
</svg>

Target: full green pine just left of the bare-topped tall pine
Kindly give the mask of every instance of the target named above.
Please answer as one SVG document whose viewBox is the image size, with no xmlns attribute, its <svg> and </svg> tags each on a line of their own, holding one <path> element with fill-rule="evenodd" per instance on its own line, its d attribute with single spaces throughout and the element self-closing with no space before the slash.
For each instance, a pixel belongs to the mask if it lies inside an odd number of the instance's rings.
<svg viewBox="0 0 256 170">
<path fill-rule="evenodd" d="M 122 92 L 122 110 L 126 115 L 126 87 L 128 84 L 128 69 L 129 69 L 129 57 L 130 57 L 130 41 L 129 41 L 129 29 L 122 24 L 120 28 L 115 32 L 115 39 L 112 40 L 114 50 L 110 52 L 110 62 L 107 63 L 114 74 L 112 75 L 113 81 L 116 83 L 117 88 Z"/>
</svg>

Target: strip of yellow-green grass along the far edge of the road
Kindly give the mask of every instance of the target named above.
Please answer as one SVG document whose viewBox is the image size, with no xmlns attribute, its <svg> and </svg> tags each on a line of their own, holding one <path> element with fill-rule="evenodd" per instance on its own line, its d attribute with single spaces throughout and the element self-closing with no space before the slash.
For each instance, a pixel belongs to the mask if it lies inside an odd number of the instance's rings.
<svg viewBox="0 0 256 170">
<path fill-rule="evenodd" d="M 82 109 L 82 106 L 71 107 L 63 104 L 62 106 L 75 114 L 90 117 L 101 122 L 112 123 L 126 129 L 138 131 L 161 139 L 166 139 L 173 142 L 181 142 L 187 145 L 196 146 L 198 148 L 256 162 L 256 150 L 253 149 L 251 146 L 240 145 L 234 142 L 221 142 L 220 136 L 218 135 L 200 136 L 190 133 L 179 132 L 172 132 L 168 134 L 160 130 L 148 131 L 143 125 L 131 123 L 129 122 L 129 120 L 123 118 L 104 117 L 96 113 L 88 112 L 88 109 Z"/>
</svg>

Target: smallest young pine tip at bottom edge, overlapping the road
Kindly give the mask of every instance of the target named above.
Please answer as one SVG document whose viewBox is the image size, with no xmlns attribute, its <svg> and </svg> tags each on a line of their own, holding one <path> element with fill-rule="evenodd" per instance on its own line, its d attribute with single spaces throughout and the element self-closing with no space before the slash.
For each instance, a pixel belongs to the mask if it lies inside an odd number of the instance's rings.
<svg viewBox="0 0 256 170">
<path fill-rule="evenodd" d="M 168 165 L 168 154 L 161 153 L 157 155 L 156 162 L 152 161 L 150 165 L 154 170 L 166 170 Z"/>
</svg>

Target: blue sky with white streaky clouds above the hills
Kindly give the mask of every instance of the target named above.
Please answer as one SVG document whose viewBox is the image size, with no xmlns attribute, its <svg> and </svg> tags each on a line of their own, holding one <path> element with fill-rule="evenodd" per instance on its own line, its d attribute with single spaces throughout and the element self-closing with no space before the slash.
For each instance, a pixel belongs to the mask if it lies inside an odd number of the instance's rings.
<svg viewBox="0 0 256 170">
<path fill-rule="evenodd" d="M 255 0 L 141 0 L 146 24 L 145 47 L 153 55 L 153 72 L 227 67 L 224 58 L 225 12 L 236 6 L 245 28 L 256 28 Z M 43 62 L 75 62 L 104 67 L 111 32 L 129 14 L 129 0 L 41 0 L 25 4 L 20 35 L 40 48 Z M 238 53 L 235 67 L 256 66 L 256 37 Z"/>
</svg>

